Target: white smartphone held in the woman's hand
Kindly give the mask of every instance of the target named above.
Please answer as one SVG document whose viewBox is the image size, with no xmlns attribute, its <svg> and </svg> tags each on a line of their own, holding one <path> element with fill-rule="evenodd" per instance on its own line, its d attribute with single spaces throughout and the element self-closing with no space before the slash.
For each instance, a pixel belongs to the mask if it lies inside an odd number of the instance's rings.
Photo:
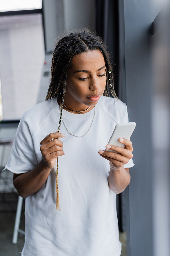
<svg viewBox="0 0 170 256">
<path fill-rule="evenodd" d="M 120 138 L 129 139 L 135 129 L 135 126 L 136 126 L 135 122 L 117 124 L 112 133 L 111 138 L 109 139 L 108 144 L 124 148 L 125 145 L 120 143 L 119 139 Z M 116 151 L 113 151 L 110 149 L 105 149 L 105 150 L 117 153 Z"/>
</svg>

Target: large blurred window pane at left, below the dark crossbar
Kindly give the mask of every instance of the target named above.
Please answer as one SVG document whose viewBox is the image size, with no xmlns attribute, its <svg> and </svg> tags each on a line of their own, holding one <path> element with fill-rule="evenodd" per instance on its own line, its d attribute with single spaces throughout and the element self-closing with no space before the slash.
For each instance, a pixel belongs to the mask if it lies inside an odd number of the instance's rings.
<svg viewBox="0 0 170 256">
<path fill-rule="evenodd" d="M 0 17 L 3 120 L 20 119 L 27 109 L 36 104 L 44 64 L 44 51 L 41 13 Z"/>
</svg>

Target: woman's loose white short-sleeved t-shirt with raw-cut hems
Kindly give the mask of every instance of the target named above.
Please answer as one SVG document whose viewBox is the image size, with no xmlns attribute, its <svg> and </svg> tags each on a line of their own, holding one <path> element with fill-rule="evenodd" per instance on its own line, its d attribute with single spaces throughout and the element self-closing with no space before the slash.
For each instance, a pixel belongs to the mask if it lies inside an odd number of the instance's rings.
<svg viewBox="0 0 170 256">
<path fill-rule="evenodd" d="M 56 132 L 60 117 L 57 98 L 37 104 L 22 117 L 6 168 L 13 173 L 32 170 L 42 159 L 40 142 Z M 94 108 L 84 114 L 63 110 L 69 132 L 84 135 Z M 117 123 L 128 122 L 126 105 L 102 96 L 94 122 L 81 138 L 70 135 L 63 122 L 64 156 L 58 158 L 61 211 L 56 210 L 56 166 L 44 186 L 26 198 L 26 237 L 22 256 L 120 256 L 116 194 L 108 186 L 105 150 Z M 132 159 L 126 168 L 133 167 Z"/>
</svg>

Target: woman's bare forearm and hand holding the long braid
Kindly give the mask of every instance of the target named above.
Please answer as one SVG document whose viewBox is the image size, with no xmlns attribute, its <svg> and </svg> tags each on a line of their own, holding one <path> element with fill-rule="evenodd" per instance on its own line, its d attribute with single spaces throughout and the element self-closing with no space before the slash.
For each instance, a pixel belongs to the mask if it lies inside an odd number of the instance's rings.
<svg viewBox="0 0 170 256">
<path fill-rule="evenodd" d="M 58 132 L 47 135 L 41 141 L 40 150 L 43 159 L 37 166 L 26 173 L 14 173 L 13 184 L 19 196 L 26 198 L 43 187 L 51 169 L 56 164 L 56 158 L 65 154 L 63 152 L 63 142 L 60 141 L 60 138 L 64 136 L 64 134 Z"/>
</svg>

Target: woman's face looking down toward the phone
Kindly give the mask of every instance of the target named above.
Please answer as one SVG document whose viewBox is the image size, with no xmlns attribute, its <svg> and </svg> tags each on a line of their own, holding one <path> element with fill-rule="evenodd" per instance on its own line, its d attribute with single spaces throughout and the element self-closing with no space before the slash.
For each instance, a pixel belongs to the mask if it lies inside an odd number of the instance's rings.
<svg viewBox="0 0 170 256">
<path fill-rule="evenodd" d="M 65 105 L 73 110 L 96 105 L 104 92 L 106 79 L 104 57 L 99 50 L 75 55 L 67 72 Z"/>
</svg>

